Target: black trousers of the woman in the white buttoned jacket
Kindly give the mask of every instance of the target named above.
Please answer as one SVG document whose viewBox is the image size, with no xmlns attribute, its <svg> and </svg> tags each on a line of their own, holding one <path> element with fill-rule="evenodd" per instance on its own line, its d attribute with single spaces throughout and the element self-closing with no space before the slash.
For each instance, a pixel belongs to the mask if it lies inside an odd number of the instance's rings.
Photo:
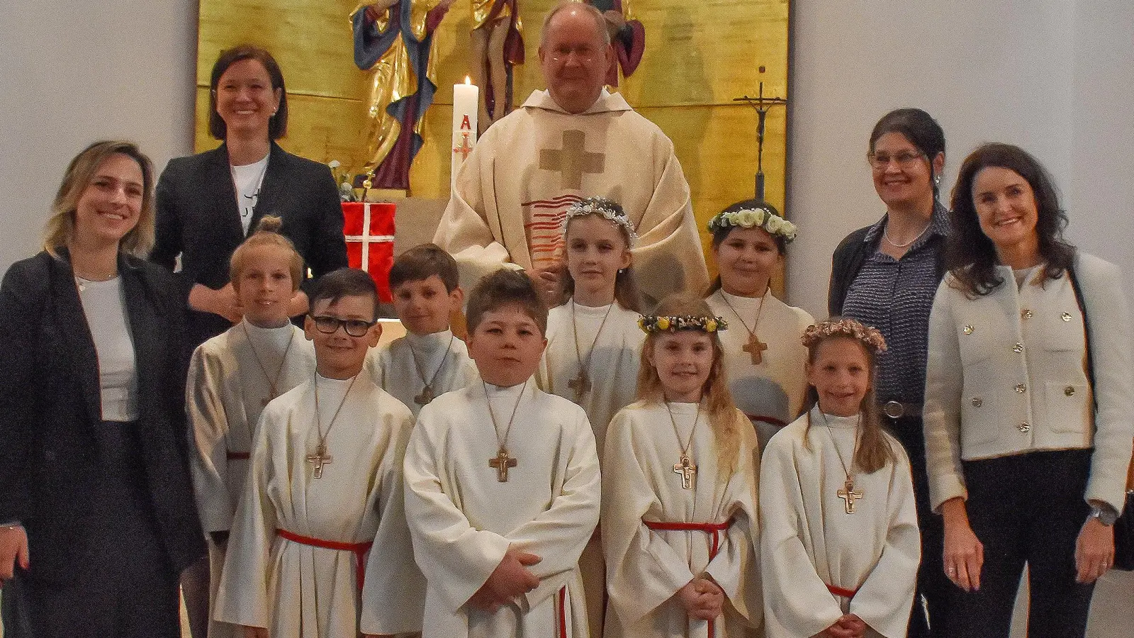
<svg viewBox="0 0 1134 638">
<path fill-rule="evenodd" d="M 1031 638 L 1083 638 L 1094 585 L 1075 582 L 1075 544 L 1090 450 L 1030 452 L 965 461 L 968 522 L 984 546 L 981 588 L 954 586 L 946 614 L 957 638 L 1007 637 L 1024 564 Z"/>
</svg>

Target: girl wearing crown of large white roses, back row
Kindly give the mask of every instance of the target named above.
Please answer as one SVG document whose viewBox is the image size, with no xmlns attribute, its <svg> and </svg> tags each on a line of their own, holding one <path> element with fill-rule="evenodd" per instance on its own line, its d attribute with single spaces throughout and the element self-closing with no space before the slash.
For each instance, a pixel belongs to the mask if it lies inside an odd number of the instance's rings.
<svg viewBox="0 0 1134 638">
<path fill-rule="evenodd" d="M 721 335 L 725 370 L 737 405 L 756 428 L 761 450 L 803 408 L 807 352 L 799 344 L 814 322 L 770 289 L 784 267 L 795 225 L 759 200 L 737 202 L 709 220 L 719 276 L 705 301 L 734 329 Z"/>
</svg>

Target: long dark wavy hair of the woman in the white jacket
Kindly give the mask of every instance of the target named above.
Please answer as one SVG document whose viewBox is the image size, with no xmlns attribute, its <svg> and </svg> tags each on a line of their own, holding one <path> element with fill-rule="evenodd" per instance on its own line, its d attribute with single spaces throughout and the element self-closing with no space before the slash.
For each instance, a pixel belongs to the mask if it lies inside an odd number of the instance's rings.
<svg viewBox="0 0 1134 638">
<path fill-rule="evenodd" d="M 953 187 L 953 215 L 949 216 L 949 238 L 945 262 L 949 272 L 970 296 L 987 295 L 1004 283 L 997 275 L 999 263 L 996 246 L 981 230 L 973 203 L 973 181 L 990 167 L 1006 168 L 1019 175 L 1035 196 L 1040 254 L 1046 261 L 1044 279 L 1058 279 L 1070 268 L 1075 247 L 1063 238 L 1067 215 L 1059 208 L 1055 182 L 1047 169 L 1027 151 L 1013 144 L 990 143 L 979 146 L 965 158 Z"/>
</svg>

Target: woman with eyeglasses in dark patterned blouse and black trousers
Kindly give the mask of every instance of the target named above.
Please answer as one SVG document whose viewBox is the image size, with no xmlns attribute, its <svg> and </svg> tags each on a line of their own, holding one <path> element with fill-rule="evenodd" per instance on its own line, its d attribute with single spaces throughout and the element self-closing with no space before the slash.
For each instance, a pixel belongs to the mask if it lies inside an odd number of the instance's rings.
<svg viewBox="0 0 1134 638">
<path fill-rule="evenodd" d="M 828 311 L 873 326 L 888 349 L 878 355 L 875 394 L 882 422 L 902 442 L 913 469 L 922 568 L 911 637 L 948 636 L 934 613 L 946 587 L 941 521 L 929 507 L 922 401 L 925 335 L 933 294 L 945 272 L 948 213 L 938 200 L 945 133 L 921 109 L 898 109 L 878 120 L 866 160 L 886 205 L 875 224 L 843 240 L 831 259 Z M 930 616 L 929 623 L 925 618 Z M 932 633 L 930 627 L 932 626 Z"/>
</svg>

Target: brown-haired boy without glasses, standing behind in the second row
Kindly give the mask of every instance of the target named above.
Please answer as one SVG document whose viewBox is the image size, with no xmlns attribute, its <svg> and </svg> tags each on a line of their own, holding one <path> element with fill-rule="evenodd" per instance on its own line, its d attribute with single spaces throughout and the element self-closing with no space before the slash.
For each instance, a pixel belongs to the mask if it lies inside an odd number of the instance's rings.
<svg viewBox="0 0 1134 638">
<path fill-rule="evenodd" d="M 457 262 L 435 244 L 414 246 L 390 268 L 393 309 L 406 336 L 366 358 L 382 389 L 406 404 L 414 417 L 423 405 L 476 380 L 476 367 L 449 319 L 462 308 Z"/>
</svg>

